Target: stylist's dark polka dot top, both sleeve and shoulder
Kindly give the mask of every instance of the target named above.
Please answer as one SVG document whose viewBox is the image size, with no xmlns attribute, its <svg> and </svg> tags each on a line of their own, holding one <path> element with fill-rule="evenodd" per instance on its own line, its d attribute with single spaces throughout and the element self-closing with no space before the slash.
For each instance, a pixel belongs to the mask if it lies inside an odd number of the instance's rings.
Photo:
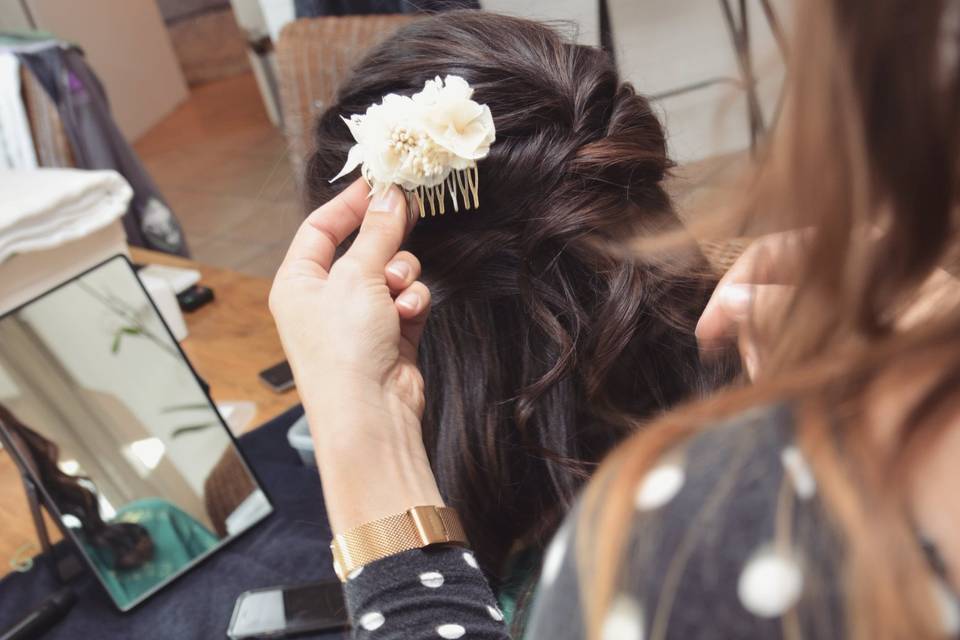
<svg viewBox="0 0 960 640">
<path fill-rule="evenodd" d="M 601 640 L 844 637 L 842 545 L 783 407 L 717 425 L 664 456 L 634 495 L 624 578 Z M 578 574 L 575 510 L 544 554 L 524 638 L 585 638 L 589 577 Z M 919 542 L 918 542 L 919 544 Z M 960 605 L 938 581 L 944 637 Z M 354 637 L 510 637 L 463 549 L 416 550 L 373 563 L 345 585 Z"/>
</svg>

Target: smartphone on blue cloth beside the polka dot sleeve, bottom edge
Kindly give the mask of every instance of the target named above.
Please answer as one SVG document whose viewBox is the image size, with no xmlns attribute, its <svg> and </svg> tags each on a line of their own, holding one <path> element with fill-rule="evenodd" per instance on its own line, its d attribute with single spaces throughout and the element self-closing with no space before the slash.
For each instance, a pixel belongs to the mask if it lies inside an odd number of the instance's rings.
<svg viewBox="0 0 960 640">
<path fill-rule="evenodd" d="M 232 640 L 287 638 L 347 627 L 339 581 L 298 587 L 270 587 L 240 594 L 227 635 Z"/>
</svg>

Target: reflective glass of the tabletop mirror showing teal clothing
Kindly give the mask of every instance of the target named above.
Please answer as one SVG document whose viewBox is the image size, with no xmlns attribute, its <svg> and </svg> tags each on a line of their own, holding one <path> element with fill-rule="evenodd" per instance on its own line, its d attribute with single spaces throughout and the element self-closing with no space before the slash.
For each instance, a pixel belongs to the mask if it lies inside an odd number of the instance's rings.
<svg viewBox="0 0 960 640">
<path fill-rule="evenodd" d="M 271 511 L 120 257 L 0 318 L 0 421 L 121 609 Z"/>
</svg>

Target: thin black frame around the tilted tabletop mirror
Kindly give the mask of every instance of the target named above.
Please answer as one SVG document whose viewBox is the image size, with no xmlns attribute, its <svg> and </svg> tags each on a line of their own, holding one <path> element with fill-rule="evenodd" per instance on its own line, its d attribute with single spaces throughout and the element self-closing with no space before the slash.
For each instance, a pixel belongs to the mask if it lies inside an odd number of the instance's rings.
<svg viewBox="0 0 960 640">
<path fill-rule="evenodd" d="M 59 291 L 60 289 L 66 287 L 72 282 L 79 280 L 84 276 L 96 271 L 97 269 L 101 269 L 106 265 L 110 264 L 111 262 L 114 262 L 117 260 L 123 262 L 126 265 L 130 275 L 136 281 L 137 286 L 139 286 L 140 290 L 143 292 L 144 297 L 149 302 L 150 308 L 160 319 L 160 323 L 163 325 L 164 331 L 166 331 L 167 335 L 170 337 L 170 341 L 176 346 L 177 352 L 180 354 L 180 357 L 183 359 L 184 364 L 187 366 L 187 368 L 190 370 L 190 373 L 193 375 L 193 379 L 196 381 L 197 386 L 200 388 L 200 391 L 203 393 L 203 397 L 206 398 L 207 402 L 210 403 L 210 407 L 214 410 L 214 413 L 216 413 L 217 421 L 219 422 L 220 427 L 226 432 L 227 436 L 230 438 L 230 444 L 235 448 L 237 454 L 240 456 L 240 460 L 243 462 L 244 467 L 246 467 L 247 471 L 250 473 L 251 477 L 256 482 L 257 488 L 260 489 L 264 497 L 267 499 L 267 503 L 270 505 L 270 511 L 260 516 L 258 519 L 254 520 L 253 522 L 251 522 L 250 526 L 248 526 L 246 529 L 244 529 L 243 531 L 240 531 L 239 533 L 235 533 L 231 536 L 223 538 L 216 547 L 213 547 L 212 549 L 209 549 L 208 551 L 193 558 L 189 563 L 183 565 L 175 574 L 163 580 L 162 582 L 157 583 L 154 587 L 144 591 L 139 596 L 137 596 L 136 598 L 131 600 L 129 603 L 127 603 L 125 606 L 121 606 L 120 603 L 118 603 L 116 599 L 114 599 L 113 595 L 110 593 L 110 590 L 107 588 L 106 583 L 104 582 L 103 578 L 100 576 L 100 573 L 97 570 L 96 566 L 94 565 L 93 561 L 90 559 L 87 553 L 83 550 L 83 545 L 80 543 L 80 540 L 77 538 L 76 534 L 73 532 L 73 530 L 70 527 L 67 527 L 63 524 L 63 515 L 60 513 L 60 510 L 57 508 L 56 503 L 50 497 L 50 493 L 47 491 L 47 488 L 44 486 L 44 483 L 41 482 L 40 478 L 34 475 L 33 471 L 30 469 L 30 465 L 27 464 L 26 459 L 23 456 L 23 452 L 18 450 L 16 443 L 14 442 L 14 439 L 10 437 L 9 433 L 7 433 L 6 425 L 4 425 L 3 422 L 0 422 L 0 442 L 3 443 L 4 448 L 6 448 L 9 454 L 13 457 L 13 460 L 16 463 L 17 467 L 19 467 L 20 472 L 27 474 L 30 477 L 30 479 L 34 482 L 34 484 L 37 486 L 40 492 L 41 502 L 43 503 L 43 506 L 47 509 L 47 511 L 50 512 L 50 515 L 52 516 L 54 523 L 60 529 L 60 532 L 63 534 L 64 540 L 70 541 L 70 544 L 72 544 L 73 546 L 73 552 L 83 559 L 83 563 L 86 565 L 86 568 L 96 577 L 97 582 L 99 583 L 103 591 L 106 593 L 107 598 L 110 600 L 113 606 L 116 607 L 121 612 L 126 613 L 127 611 L 131 611 L 136 607 L 138 607 L 139 605 L 143 604 L 143 602 L 148 600 L 151 596 L 153 596 L 157 592 L 177 582 L 180 578 L 182 578 L 184 575 L 189 573 L 192 569 L 195 569 L 197 566 L 205 562 L 208 558 L 215 555 L 220 550 L 224 549 L 227 545 L 232 543 L 234 540 L 242 537 L 248 531 L 250 531 L 251 529 L 254 529 L 257 525 L 262 524 L 264 520 L 274 515 L 277 512 L 277 509 L 273 503 L 273 500 L 270 498 L 269 492 L 264 487 L 263 481 L 257 475 L 257 472 L 254 470 L 253 466 L 250 464 L 250 461 L 247 460 L 247 456 L 246 454 L 243 453 L 243 449 L 240 448 L 240 443 L 237 440 L 237 437 L 233 435 L 233 432 L 230 431 L 230 427 L 227 426 L 227 423 L 223 419 L 223 416 L 220 415 L 220 411 L 217 409 L 216 403 L 214 403 L 213 398 L 210 396 L 209 385 L 207 385 L 206 382 L 203 380 L 203 378 L 201 378 L 197 374 L 197 371 L 194 368 L 193 363 L 190 362 L 190 359 L 187 357 L 187 354 L 184 352 L 183 347 L 180 346 L 180 343 L 174 337 L 173 332 L 170 331 L 170 327 L 167 326 L 166 321 L 163 319 L 163 315 L 160 313 L 160 309 L 157 307 L 156 303 L 153 301 L 153 298 L 150 297 L 150 294 L 147 293 L 146 287 L 143 285 L 143 282 L 140 280 L 140 277 L 137 275 L 137 271 L 134 268 L 133 262 L 131 262 L 130 258 L 126 254 L 118 253 L 105 260 L 102 260 L 97 264 L 87 269 L 84 269 L 80 273 L 71 277 L 69 280 L 65 280 L 64 282 L 61 282 L 55 287 L 48 289 L 47 291 L 27 300 L 26 302 L 20 305 L 17 305 L 13 309 L 10 309 L 5 313 L 0 314 L 0 322 L 3 322 L 3 320 L 5 320 L 9 316 L 19 313 L 20 311 L 30 306 L 34 302 L 37 302 L 38 300 L 45 298 L 55 293 L 56 291 Z M 24 487 L 24 489 L 26 490 L 26 487 Z M 27 498 L 29 500 L 29 496 L 27 496 Z M 38 535 L 40 535 L 39 532 L 38 532 Z M 56 547 L 56 544 L 59 544 L 59 543 L 55 543 L 54 548 Z M 41 551 L 41 553 L 43 552 Z M 55 557 L 54 557 L 54 560 L 55 560 Z"/>
</svg>

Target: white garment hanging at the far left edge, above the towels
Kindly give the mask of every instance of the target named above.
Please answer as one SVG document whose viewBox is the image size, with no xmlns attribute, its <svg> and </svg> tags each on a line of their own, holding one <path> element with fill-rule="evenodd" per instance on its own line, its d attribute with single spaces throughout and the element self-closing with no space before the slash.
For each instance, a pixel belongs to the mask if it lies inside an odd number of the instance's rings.
<svg viewBox="0 0 960 640">
<path fill-rule="evenodd" d="M 37 156 L 23 108 L 20 61 L 0 51 L 0 169 L 34 169 Z"/>
</svg>

